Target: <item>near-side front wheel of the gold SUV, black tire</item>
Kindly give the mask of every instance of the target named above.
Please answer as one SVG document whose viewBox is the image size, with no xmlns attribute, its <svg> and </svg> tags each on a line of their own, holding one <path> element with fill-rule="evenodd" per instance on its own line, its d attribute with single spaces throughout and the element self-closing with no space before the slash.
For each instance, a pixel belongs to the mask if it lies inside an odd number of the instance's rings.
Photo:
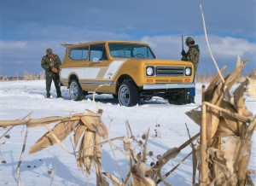
<svg viewBox="0 0 256 186">
<path fill-rule="evenodd" d="M 119 104 L 125 107 L 132 107 L 137 105 L 139 95 L 137 85 L 131 80 L 125 80 L 119 86 Z"/>
</svg>

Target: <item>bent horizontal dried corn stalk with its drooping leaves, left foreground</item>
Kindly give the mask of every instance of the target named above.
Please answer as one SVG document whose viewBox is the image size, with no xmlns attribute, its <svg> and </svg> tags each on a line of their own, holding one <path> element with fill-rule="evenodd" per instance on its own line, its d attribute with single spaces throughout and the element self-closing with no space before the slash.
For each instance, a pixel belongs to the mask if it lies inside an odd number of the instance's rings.
<svg viewBox="0 0 256 186">
<path fill-rule="evenodd" d="M 101 137 L 108 137 L 108 130 L 102 122 L 102 110 L 99 110 L 98 113 L 93 113 L 90 110 L 87 111 L 88 113 L 74 114 L 69 117 L 55 116 L 44 119 L 4 120 L 0 121 L 0 127 L 9 125 L 26 125 L 27 127 L 45 126 L 48 132 L 32 145 L 29 154 L 37 153 L 56 143 L 59 143 L 61 147 L 67 151 L 67 148 L 65 148 L 61 142 L 74 132 L 74 146 L 76 148 L 79 145 L 77 156 L 78 165 L 82 167 L 87 174 L 90 174 L 91 163 L 94 163 L 97 183 L 102 184 L 104 183 L 101 170 L 102 150 L 101 146 L 97 144 L 101 143 Z M 57 124 L 52 129 L 46 126 L 56 122 Z"/>
</svg>

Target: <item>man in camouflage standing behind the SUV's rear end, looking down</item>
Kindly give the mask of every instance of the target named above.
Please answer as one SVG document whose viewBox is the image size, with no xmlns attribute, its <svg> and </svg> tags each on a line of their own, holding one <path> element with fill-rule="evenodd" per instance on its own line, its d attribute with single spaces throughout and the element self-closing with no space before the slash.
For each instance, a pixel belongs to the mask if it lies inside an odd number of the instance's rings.
<svg viewBox="0 0 256 186">
<path fill-rule="evenodd" d="M 52 80 L 55 83 L 55 89 L 57 93 L 57 98 L 61 96 L 61 86 L 60 86 L 60 66 L 61 60 L 58 55 L 53 54 L 52 49 L 46 49 L 46 55 L 43 56 L 41 61 L 41 67 L 45 70 L 45 80 L 46 80 L 46 96 L 50 98 L 50 86 Z"/>
</svg>

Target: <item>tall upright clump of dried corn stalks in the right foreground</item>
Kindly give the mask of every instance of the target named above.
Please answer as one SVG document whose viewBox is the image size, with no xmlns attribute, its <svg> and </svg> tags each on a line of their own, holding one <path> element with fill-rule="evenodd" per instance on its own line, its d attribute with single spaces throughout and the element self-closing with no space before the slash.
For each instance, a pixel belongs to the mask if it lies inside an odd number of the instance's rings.
<svg viewBox="0 0 256 186">
<path fill-rule="evenodd" d="M 203 104 L 210 106 L 206 111 L 209 184 L 251 183 L 247 166 L 251 156 L 251 138 L 256 127 L 256 117 L 247 109 L 243 95 L 245 87 L 251 96 L 255 95 L 256 71 L 241 80 L 241 71 L 246 63 L 238 58 L 236 69 L 224 78 L 224 82 L 216 75 L 205 93 L 206 102 Z M 221 73 L 223 72 L 224 68 L 221 70 Z M 231 96 L 230 89 L 239 80 L 240 85 Z M 187 115 L 201 125 L 201 111 L 192 110 Z M 221 137 L 227 137 L 224 146 L 221 144 Z M 201 157 L 198 159 L 203 163 Z"/>
</svg>

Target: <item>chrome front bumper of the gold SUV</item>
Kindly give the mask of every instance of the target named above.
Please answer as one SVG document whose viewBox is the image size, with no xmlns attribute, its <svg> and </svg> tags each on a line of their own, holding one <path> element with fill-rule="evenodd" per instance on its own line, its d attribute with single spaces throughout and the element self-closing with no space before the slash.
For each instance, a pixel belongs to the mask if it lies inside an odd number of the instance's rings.
<svg viewBox="0 0 256 186">
<path fill-rule="evenodd" d="M 191 84 L 143 84 L 143 90 L 158 90 L 158 89 L 184 89 L 195 88 L 195 83 Z"/>
</svg>

